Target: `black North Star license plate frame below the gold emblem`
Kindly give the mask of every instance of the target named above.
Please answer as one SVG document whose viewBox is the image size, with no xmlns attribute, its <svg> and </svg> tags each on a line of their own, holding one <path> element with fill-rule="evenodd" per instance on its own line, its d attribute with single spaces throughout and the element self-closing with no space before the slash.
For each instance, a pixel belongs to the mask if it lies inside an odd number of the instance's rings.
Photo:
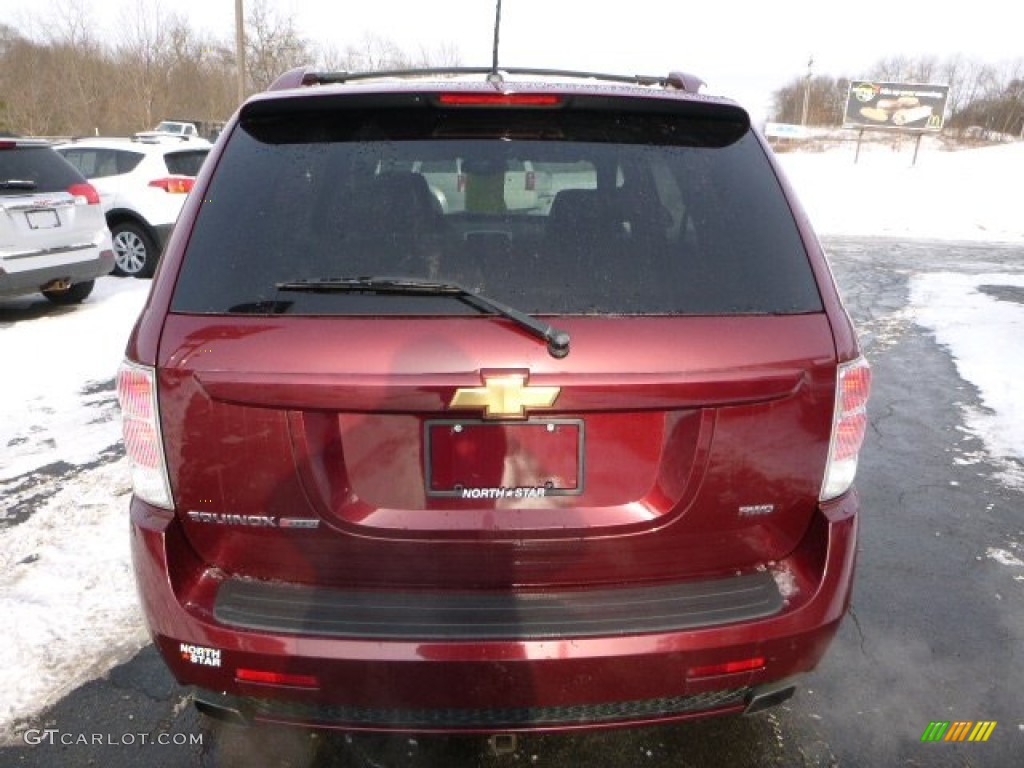
<svg viewBox="0 0 1024 768">
<path fill-rule="evenodd" d="M 437 419 L 424 424 L 423 434 L 428 497 L 498 501 L 583 493 L 581 419 Z"/>
</svg>

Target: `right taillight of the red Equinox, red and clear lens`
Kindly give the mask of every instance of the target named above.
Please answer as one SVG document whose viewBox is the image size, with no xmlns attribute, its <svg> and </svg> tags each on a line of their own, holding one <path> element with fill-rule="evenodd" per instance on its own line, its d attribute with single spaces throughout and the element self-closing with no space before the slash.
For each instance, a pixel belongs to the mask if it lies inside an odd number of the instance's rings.
<svg viewBox="0 0 1024 768">
<path fill-rule="evenodd" d="M 839 367 L 836 412 L 833 417 L 828 465 L 821 484 L 821 501 L 845 494 L 857 474 L 857 457 L 867 432 L 867 396 L 871 368 L 863 357 Z"/>
</svg>

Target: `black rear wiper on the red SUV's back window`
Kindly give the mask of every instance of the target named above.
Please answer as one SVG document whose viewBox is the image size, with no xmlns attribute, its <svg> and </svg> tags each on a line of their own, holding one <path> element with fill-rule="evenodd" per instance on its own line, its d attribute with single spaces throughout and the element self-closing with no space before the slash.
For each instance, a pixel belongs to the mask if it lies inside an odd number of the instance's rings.
<svg viewBox="0 0 1024 768">
<path fill-rule="evenodd" d="M 548 342 L 548 352 L 552 357 L 564 357 L 569 353 L 569 335 L 553 328 L 532 315 L 513 309 L 495 299 L 471 291 L 458 283 L 425 281 L 418 278 L 325 278 L 318 280 L 295 280 L 278 283 L 279 291 L 304 291 L 307 293 L 379 293 L 400 294 L 402 296 L 454 296 L 510 321 L 529 331 L 539 339 Z"/>
</svg>

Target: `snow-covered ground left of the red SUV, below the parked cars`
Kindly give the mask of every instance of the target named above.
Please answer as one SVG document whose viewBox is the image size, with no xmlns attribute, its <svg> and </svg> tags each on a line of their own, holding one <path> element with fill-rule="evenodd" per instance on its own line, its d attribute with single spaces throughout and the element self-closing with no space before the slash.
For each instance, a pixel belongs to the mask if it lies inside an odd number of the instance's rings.
<svg viewBox="0 0 1024 768">
<path fill-rule="evenodd" d="M 130 482 L 112 381 L 147 289 L 104 278 L 72 310 L 10 325 L 0 314 L 0 615 L 8 628 L 0 743 L 13 741 L 13 723 L 147 641 L 128 553 Z M 59 486 L 53 473 L 65 478 Z"/>
</svg>

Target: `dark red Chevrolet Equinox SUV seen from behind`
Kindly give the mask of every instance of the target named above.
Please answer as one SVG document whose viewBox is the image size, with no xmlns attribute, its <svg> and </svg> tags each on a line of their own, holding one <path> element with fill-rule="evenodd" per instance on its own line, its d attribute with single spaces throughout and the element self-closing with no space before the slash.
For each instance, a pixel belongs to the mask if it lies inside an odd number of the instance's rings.
<svg viewBox="0 0 1024 768">
<path fill-rule="evenodd" d="M 203 712 L 665 722 L 821 659 L 869 369 L 694 82 L 302 71 L 240 109 L 118 378 L 142 604 Z"/>
</svg>

